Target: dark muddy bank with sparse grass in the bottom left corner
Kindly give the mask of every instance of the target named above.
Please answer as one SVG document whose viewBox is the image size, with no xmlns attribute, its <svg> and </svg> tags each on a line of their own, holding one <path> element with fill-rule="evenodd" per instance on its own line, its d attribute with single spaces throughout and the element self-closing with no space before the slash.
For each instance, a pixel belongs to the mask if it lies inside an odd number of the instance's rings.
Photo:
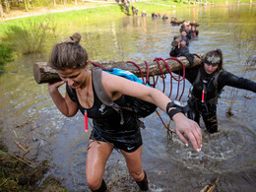
<svg viewBox="0 0 256 192">
<path fill-rule="evenodd" d="M 9 154 L 0 141 L 0 191 L 67 191 L 51 174 L 47 160 L 35 162 Z"/>
</svg>

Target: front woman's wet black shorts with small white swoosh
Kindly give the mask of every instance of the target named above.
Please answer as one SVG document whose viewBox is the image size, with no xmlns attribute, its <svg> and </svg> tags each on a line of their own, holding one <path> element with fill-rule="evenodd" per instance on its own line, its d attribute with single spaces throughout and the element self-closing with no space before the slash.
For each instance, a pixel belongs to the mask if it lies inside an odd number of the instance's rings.
<svg viewBox="0 0 256 192">
<path fill-rule="evenodd" d="M 123 150 L 127 153 L 132 153 L 138 150 L 143 144 L 140 128 L 133 134 L 119 135 L 118 137 L 105 136 L 100 130 L 94 128 L 90 139 L 106 142 L 113 145 L 115 150 Z"/>
</svg>

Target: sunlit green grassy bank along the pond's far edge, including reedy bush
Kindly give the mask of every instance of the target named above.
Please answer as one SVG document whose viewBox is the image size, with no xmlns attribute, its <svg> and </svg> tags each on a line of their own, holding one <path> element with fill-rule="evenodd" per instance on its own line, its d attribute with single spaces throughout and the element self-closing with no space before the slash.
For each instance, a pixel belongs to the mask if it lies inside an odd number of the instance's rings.
<svg viewBox="0 0 256 192">
<path fill-rule="evenodd" d="M 193 3 L 194 1 L 190 1 Z M 132 15 L 131 7 L 134 6 L 138 9 L 138 15 L 141 15 L 142 11 L 146 11 L 148 15 L 152 13 L 168 13 L 171 10 L 178 10 L 191 6 L 202 6 L 204 1 L 199 0 L 201 4 L 188 4 L 188 1 L 167 1 L 167 0 L 151 0 L 151 1 L 136 1 L 130 4 L 130 12 L 124 10 L 122 4 L 97 4 L 97 3 L 84 3 L 82 9 L 78 10 L 73 7 L 72 3 L 66 5 L 66 9 L 63 6 L 60 7 L 62 12 L 54 13 L 58 9 L 48 11 L 48 14 L 39 16 L 32 16 L 27 18 L 20 18 L 14 20 L 6 20 L 0 22 L 0 55 L 2 58 L 7 58 L 0 62 L 0 64 L 8 62 L 12 58 L 13 50 L 10 47 L 16 47 L 19 50 L 19 54 L 29 54 L 42 52 L 44 47 L 43 39 L 47 39 L 51 36 L 56 36 L 67 24 L 72 25 L 90 25 L 92 23 L 102 23 L 106 21 L 113 21 L 127 15 Z M 208 0 L 208 2 L 210 2 Z M 236 3 L 236 0 L 212 0 L 215 4 Z M 240 0 L 240 3 L 249 3 L 248 0 Z M 87 6 L 85 6 L 85 4 Z M 49 5 L 50 6 L 50 5 Z M 49 9 L 49 7 L 47 8 Z M 30 12 L 28 12 L 30 14 Z M 38 13 L 40 14 L 40 13 Z M 7 45 L 8 46 L 5 46 Z M 10 46 L 11 44 L 11 46 Z M 2 53 L 2 54 L 1 54 Z"/>
</svg>

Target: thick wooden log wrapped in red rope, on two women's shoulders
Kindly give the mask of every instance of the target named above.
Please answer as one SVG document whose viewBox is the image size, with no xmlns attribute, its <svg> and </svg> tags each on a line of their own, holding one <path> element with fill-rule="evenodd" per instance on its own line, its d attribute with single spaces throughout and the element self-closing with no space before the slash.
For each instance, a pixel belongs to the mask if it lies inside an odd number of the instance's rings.
<svg viewBox="0 0 256 192">
<path fill-rule="evenodd" d="M 194 62 L 192 65 L 189 64 L 186 57 L 178 57 L 178 60 L 180 60 L 186 68 L 195 67 L 201 64 L 201 59 L 197 56 L 194 57 Z M 126 71 L 130 71 L 133 74 L 135 74 L 137 77 L 141 77 L 141 72 L 139 69 L 132 63 L 129 63 L 129 61 L 92 61 L 96 63 L 97 65 L 100 65 L 104 68 L 119 68 Z M 171 71 L 177 71 L 179 69 L 182 69 L 182 65 L 174 60 L 166 60 L 166 63 L 168 64 Z M 143 73 L 143 76 L 147 76 L 147 66 L 145 63 L 136 63 Z M 160 67 L 157 61 L 148 62 L 149 65 L 149 76 L 156 76 L 160 75 L 160 68 L 163 74 L 168 73 L 168 70 L 164 64 L 163 61 L 160 60 Z M 93 69 L 94 66 L 92 63 L 90 64 L 89 68 Z M 33 64 L 33 77 L 37 84 L 43 84 L 43 83 L 55 83 L 58 81 L 61 81 L 58 73 L 52 69 L 50 66 L 47 65 L 46 62 L 36 62 Z"/>
</svg>

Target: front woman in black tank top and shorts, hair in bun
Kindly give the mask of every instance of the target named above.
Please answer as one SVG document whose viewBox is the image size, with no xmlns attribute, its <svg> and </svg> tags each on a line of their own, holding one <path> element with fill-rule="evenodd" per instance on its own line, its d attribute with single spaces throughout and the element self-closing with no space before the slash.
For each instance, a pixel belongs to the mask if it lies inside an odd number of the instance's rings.
<svg viewBox="0 0 256 192">
<path fill-rule="evenodd" d="M 87 113 L 88 117 L 93 118 L 94 127 L 86 160 L 86 178 L 92 191 L 106 190 L 102 176 L 113 149 L 120 150 L 130 174 L 139 187 L 146 191 L 149 187 L 142 167 L 143 143 L 137 118 L 133 112 L 123 110 L 124 122 L 121 124 L 120 114 L 113 108 L 102 111 L 102 102 L 96 96 L 92 82 L 93 72 L 89 69 L 88 54 L 79 44 L 80 38 L 81 35 L 76 32 L 53 47 L 49 63 L 62 81 L 48 84 L 49 95 L 65 116 L 74 116 L 80 109 L 83 114 Z M 125 104 L 126 95 L 152 102 L 163 111 L 166 110 L 175 123 L 175 131 L 180 140 L 188 146 L 184 137 L 186 135 L 194 149 L 198 152 L 201 150 L 202 135 L 198 124 L 188 119 L 160 91 L 106 72 L 102 72 L 101 79 L 107 95 L 119 105 Z M 66 84 L 67 91 L 64 97 L 58 90 L 63 84 Z M 75 92 L 76 99 L 70 95 L 69 89 Z"/>
</svg>

